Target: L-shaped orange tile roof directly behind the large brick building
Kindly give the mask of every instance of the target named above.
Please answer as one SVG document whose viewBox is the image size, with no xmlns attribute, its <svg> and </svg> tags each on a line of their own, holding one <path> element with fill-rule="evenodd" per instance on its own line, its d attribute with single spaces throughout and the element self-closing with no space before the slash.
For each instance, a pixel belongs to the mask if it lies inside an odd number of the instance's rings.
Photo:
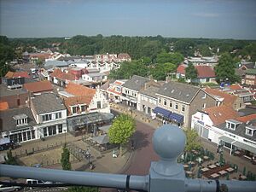
<svg viewBox="0 0 256 192">
<path fill-rule="evenodd" d="M 224 97 L 224 105 L 228 105 L 228 106 L 232 106 L 236 101 L 236 99 L 238 98 L 238 96 L 233 96 L 228 93 L 224 93 L 220 90 L 211 89 L 209 87 L 207 87 L 205 91 L 212 96 Z"/>
</svg>

